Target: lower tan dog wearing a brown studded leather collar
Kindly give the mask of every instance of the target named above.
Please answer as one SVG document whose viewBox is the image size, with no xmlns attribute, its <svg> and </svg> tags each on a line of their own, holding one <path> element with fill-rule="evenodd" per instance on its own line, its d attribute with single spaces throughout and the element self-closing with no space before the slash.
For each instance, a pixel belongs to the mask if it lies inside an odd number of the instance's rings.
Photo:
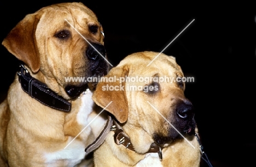
<svg viewBox="0 0 256 167">
<path fill-rule="evenodd" d="M 94 152 L 95 166 L 199 166 L 197 128 L 193 106 L 184 96 L 182 69 L 162 53 L 152 61 L 158 54 L 131 54 L 98 83 L 93 100 L 102 108 L 111 102 L 106 110 L 117 120 Z"/>
</svg>

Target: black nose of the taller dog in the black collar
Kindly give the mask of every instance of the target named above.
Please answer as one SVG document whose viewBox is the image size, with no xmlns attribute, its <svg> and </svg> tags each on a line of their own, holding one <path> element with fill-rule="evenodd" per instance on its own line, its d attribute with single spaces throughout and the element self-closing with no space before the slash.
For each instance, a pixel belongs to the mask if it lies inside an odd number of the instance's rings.
<svg viewBox="0 0 256 167">
<path fill-rule="evenodd" d="M 95 43 L 91 43 L 91 45 L 89 45 L 89 48 L 86 51 L 86 56 L 88 57 L 89 60 L 96 61 L 96 60 L 101 59 L 102 56 L 106 57 L 106 50 L 103 45 L 95 44 Z"/>
</svg>

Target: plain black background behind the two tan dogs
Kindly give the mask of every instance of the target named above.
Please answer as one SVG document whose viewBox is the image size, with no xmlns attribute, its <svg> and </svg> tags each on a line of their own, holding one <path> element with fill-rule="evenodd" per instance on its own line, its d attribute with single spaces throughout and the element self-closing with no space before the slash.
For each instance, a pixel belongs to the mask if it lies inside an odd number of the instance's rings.
<svg viewBox="0 0 256 167">
<path fill-rule="evenodd" d="M 68 1 L 1 1 L 1 40 L 26 14 Z M 79 1 L 78 1 L 79 2 Z M 139 51 L 173 55 L 196 109 L 205 152 L 213 166 L 256 166 L 256 8 L 253 4 L 168 1 L 81 1 L 98 17 L 110 63 Z M 1 45 L 1 98 L 18 61 Z M 202 163 L 201 166 L 206 166 Z"/>
</svg>

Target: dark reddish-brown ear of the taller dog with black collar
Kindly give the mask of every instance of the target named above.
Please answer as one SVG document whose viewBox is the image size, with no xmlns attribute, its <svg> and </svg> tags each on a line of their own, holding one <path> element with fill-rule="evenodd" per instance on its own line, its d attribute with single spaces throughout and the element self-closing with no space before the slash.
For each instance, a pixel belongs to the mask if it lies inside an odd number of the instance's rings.
<svg viewBox="0 0 256 167">
<path fill-rule="evenodd" d="M 40 68 L 35 32 L 39 18 L 28 14 L 9 32 L 2 45 L 33 72 Z"/>
</svg>

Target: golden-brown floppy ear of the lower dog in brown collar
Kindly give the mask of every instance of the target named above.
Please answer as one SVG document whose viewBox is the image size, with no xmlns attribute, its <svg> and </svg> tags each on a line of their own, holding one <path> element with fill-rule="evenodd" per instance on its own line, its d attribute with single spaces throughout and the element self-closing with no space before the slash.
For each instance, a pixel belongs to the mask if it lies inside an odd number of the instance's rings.
<svg viewBox="0 0 256 167">
<path fill-rule="evenodd" d="M 102 82 L 98 82 L 92 95 L 92 100 L 102 108 L 105 108 L 112 101 L 106 110 L 113 114 L 120 123 L 124 123 L 128 119 L 125 82 L 120 82 L 120 78 L 125 78 L 128 73 L 129 69 L 126 65 L 110 70 L 108 75 L 101 79 Z M 115 81 L 112 82 L 111 80 L 110 82 L 110 79 Z"/>
</svg>

